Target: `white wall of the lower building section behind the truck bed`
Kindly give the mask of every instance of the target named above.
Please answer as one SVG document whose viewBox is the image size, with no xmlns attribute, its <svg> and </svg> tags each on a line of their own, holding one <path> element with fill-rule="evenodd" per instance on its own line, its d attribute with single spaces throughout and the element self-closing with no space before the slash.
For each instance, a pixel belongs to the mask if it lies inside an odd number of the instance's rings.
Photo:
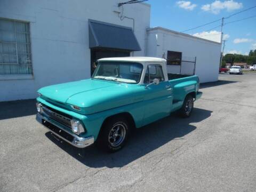
<svg viewBox="0 0 256 192">
<path fill-rule="evenodd" d="M 182 60 L 196 57 L 195 74 L 200 82 L 218 81 L 221 44 L 163 28 L 153 28 L 147 31 L 147 55 L 162 58 L 167 51 L 182 52 Z M 194 67 L 182 63 L 181 73 L 193 73 Z M 180 66 L 167 66 L 169 73 L 180 73 Z"/>
</svg>

